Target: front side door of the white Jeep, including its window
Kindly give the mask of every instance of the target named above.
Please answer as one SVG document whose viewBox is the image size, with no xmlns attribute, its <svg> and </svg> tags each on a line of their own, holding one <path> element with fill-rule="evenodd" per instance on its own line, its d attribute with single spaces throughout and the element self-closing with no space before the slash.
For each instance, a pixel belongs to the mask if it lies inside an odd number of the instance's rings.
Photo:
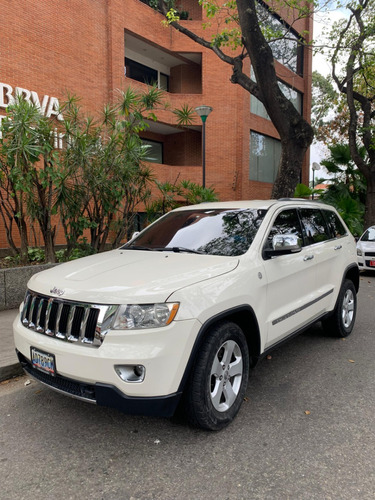
<svg viewBox="0 0 375 500">
<path fill-rule="evenodd" d="M 267 277 L 266 348 L 298 331 L 317 315 L 316 266 L 310 245 L 304 245 L 298 210 L 278 212 L 266 235 L 264 247 L 276 234 L 294 234 L 301 242 L 301 251 L 264 258 Z"/>
</svg>

